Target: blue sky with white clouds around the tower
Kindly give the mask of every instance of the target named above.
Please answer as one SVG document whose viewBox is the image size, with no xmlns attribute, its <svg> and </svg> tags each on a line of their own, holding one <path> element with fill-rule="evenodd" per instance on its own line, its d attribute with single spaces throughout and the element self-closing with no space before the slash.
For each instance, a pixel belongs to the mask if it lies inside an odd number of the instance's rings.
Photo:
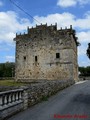
<svg viewBox="0 0 90 120">
<path fill-rule="evenodd" d="M 86 55 L 90 43 L 90 0 L 12 0 L 39 23 L 57 23 L 58 29 L 76 30 L 80 42 L 78 47 L 79 66 L 90 66 Z M 27 27 L 39 23 L 13 5 L 10 0 L 0 0 L 0 63 L 15 61 L 16 33 L 26 32 Z"/>
</svg>

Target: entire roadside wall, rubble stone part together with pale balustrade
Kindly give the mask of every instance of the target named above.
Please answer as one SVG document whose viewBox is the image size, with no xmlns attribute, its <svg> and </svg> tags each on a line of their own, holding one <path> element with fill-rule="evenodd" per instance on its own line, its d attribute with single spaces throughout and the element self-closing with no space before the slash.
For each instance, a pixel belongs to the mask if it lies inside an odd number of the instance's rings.
<svg viewBox="0 0 90 120">
<path fill-rule="evenodd" d="M 28 87 L 22 86 L 17 90 L 0 92 L 0 120 L 47 100 L 51 95 L 74 83 L 72 80 L 46 81 L 30 84 Z"/>
</svg>

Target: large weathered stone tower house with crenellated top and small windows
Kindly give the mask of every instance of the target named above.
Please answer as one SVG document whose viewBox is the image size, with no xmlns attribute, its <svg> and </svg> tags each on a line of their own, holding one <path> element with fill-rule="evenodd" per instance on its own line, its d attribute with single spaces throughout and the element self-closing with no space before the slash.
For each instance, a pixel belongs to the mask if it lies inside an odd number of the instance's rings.
<svg viewBox="0 0 90 120">
<path fill-rule="evenodd" d="M 57 24 L 28 28 L 16 34 L 16 70 L 18 81 L 77 80 L 77 37 L 70 28 L 57 30 Z"/>
</svg>

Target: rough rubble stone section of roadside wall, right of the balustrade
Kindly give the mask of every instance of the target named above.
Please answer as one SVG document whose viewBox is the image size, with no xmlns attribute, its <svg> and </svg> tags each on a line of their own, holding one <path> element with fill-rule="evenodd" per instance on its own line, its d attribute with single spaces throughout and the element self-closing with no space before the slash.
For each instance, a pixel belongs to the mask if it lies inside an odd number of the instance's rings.
<svg viewBox="0 0 90 120">
<path fill-rule="evenodd" d="M 58 91 L 71 86 L 75 82 L 72 80 L 64 81 L 47 81 L 33 84 L 28 89 L 28 106 L 32 106 L 42 100 L 47 100 L 48 97 Z"/>
</svg>

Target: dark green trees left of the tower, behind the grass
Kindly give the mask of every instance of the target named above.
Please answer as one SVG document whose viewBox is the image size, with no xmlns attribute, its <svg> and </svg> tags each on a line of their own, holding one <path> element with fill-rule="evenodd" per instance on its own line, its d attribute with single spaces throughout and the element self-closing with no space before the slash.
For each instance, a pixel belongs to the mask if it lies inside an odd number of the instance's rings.
<svg viewBox="0 0 90 120">
<path fill-rule="evenodd" d="M 2 77 L 14 77 L 15 75 L 15 63 L 0 63 L 0 78 Z"/>
</svg>

